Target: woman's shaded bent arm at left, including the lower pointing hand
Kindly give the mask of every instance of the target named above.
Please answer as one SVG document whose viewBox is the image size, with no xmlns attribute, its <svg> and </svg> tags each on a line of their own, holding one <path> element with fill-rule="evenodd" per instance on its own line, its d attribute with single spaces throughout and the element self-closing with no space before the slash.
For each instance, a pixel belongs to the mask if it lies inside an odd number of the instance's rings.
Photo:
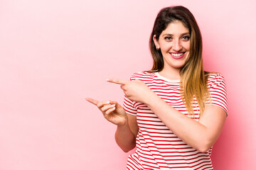
<svg viewBox="0 0 256 170">
<path fill-rule="evenodd" d="M 136 146 L 139 130 L 136 116 L 127 114 L 116 101 L 97 101 L 92 98 L 86 98 L 86 100 L 97 106 L 105 119 L 117 125 L 115 133 L 117 145 L 124 152 L 132 150 Z"/>
</svg>

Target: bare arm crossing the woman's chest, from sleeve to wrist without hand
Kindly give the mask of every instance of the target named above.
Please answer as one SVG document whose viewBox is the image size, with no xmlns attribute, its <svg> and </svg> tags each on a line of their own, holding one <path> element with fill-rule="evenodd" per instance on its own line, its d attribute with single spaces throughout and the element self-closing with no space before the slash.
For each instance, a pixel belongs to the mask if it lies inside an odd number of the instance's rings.
<svg viewBox="0 0 256 170">
<path fill-rule="evenodd" d="M 183 142 L 200 152 L 206 152 L 213 146 L 225 123 L 226 113 L 218 106 L 206 105 L 202 117 L 197 122 L 169 106 L 156 94 L 145 98 L 145 104 Z"/>
</svg>

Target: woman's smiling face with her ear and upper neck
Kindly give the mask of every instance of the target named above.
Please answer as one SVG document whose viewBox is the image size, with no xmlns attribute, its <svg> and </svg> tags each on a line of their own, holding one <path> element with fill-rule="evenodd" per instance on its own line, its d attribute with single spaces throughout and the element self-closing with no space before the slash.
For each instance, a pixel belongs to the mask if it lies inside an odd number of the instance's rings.
<svg viewBox="0 0 256 170">
<path fill-rule="evenodd" d="M 184 66 L 190 49 L 190 34 L 181 21 L 169 23 L 154 43 L 159 47 L 164 59 L 163 71 L 180 70 Z"/>
</svg>

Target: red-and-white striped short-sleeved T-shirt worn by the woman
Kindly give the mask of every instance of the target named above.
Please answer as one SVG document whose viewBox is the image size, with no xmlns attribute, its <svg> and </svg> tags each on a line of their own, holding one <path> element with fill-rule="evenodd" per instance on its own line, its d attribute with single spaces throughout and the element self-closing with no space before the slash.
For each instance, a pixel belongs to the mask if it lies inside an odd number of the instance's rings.
<svg viewBox="0 0 256 170">
<path fill-rule="evenodd" d="M 188 115 L 180 93 L 180 80 L 170 80 L 157 72 L 134 73 L 131 80 L 139 79 L 149 86 L 166 103 Z M 228 113 L 225 79 L 220 74 L 210 74 L 208 89 L 212 105 L 223 108 Z M 179 139 L 144 104 L 134 102 L 124 96 L 124 110 L 137 116 L 139 132 L 136 139 L 136 152 L 129 155 L 127 169 L 213 169 L 210 159 L 212 148 L 202 153 Z M 193 105 L 193 120 L 199 120 L 198 104 Z"/>
</svg>

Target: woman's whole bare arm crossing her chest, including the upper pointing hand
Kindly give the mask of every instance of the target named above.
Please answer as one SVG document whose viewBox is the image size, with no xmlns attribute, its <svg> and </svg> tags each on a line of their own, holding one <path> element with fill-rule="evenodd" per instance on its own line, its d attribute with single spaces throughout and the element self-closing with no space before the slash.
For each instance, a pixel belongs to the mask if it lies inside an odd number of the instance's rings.
<svg viewBox="0 0 256 170">
<path fill-rule="evenodd" d="M 146 104 L 175 135 L 200 152 L 207 152 L 223 129 L 226 118 L 223 108 L 206 105 L 203 115 L 197 122 L 163 101 L 143 81 L 108 81 L 121 84 L 127 98 Z"/>
</svg>

